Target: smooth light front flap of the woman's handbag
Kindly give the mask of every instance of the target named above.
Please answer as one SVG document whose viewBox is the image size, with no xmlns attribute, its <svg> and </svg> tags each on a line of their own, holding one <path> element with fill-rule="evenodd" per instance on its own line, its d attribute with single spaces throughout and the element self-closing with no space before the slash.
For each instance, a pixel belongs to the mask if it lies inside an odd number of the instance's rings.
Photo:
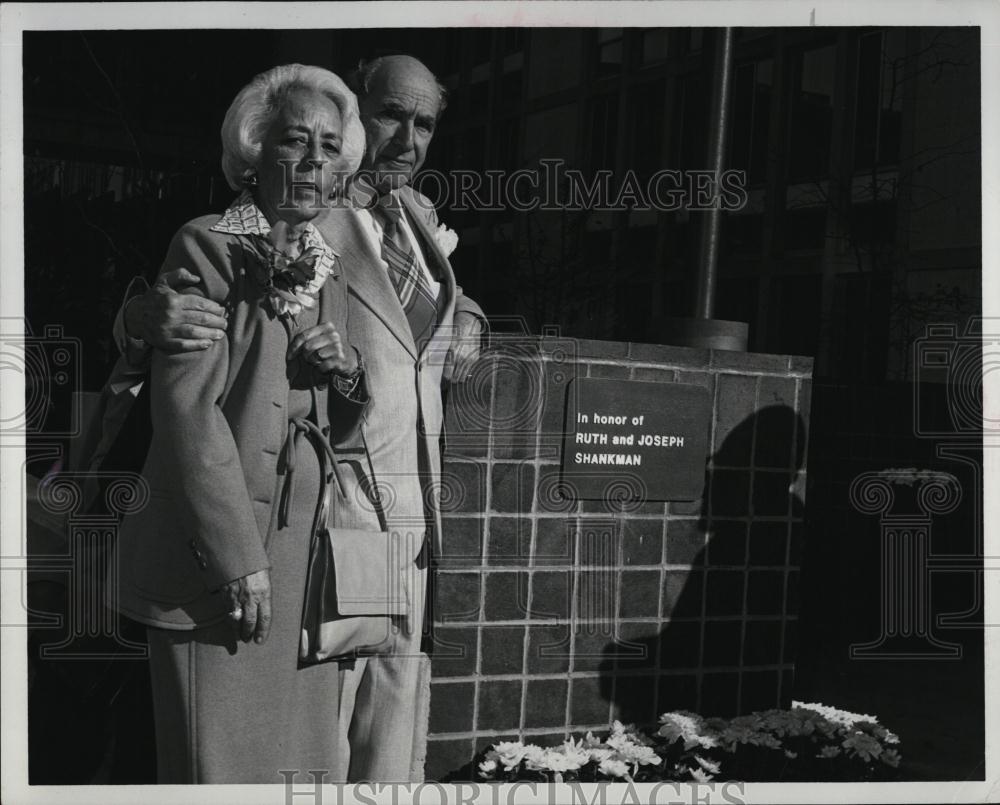
<svg viewBox="0 0 1000 805">
<path fill-rule="evenodd" d="M 333 554 L 339 614 L 409 612 L 403 568 L 411 562 L 395 532 L 333 528 L 326 536 Z"/>
</svg>

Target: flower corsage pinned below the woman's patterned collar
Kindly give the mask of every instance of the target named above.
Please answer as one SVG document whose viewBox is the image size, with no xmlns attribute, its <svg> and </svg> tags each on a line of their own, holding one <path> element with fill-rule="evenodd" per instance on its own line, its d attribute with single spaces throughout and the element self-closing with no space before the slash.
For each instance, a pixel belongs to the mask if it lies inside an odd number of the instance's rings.
<svg viewBox="0 0 1000 805">
<path fill-rule="evenodd" d="M 264 292 L 280 317 L 294 319 L 315 307 L 323 284 L 337 276 L 337 253 L 312 224 L 293 235 L 287 223 L 278 221 L 253 240 L 264 266 Z"/>
</svg>

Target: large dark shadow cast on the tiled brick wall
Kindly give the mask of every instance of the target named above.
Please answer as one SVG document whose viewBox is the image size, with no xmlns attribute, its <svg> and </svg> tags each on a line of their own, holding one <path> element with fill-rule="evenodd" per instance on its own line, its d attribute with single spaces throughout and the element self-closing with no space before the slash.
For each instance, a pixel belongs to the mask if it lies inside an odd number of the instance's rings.
<svg viewBox="0 0 1000 805">
<path fill-rule="evenodd" d="M 620 618 L 599 666 L 601 694 L 620 720 L 788 706 L 804 434 L 792 408 L 761 409 L 709 458 L 700 504 L 670 504 L 660 604 L 669 622 L 650 634 L 655 624 Z"/>
</svg>

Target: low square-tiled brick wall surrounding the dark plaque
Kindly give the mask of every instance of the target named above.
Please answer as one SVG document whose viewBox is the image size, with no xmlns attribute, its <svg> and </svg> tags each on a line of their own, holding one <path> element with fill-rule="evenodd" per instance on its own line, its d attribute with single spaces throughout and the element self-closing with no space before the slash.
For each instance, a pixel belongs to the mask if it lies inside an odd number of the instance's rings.
<svg viewBox="0 0 1000 805">
<path fill-rule="evenodd" d="M 810 359 L 498 340 L 448 400 L 426 776 L 515 736 L 558 743 L 668 709 L 787 704 Z M 569 381 L 706 386 L 702 500 L 578 501 L 559 479 Z M 798 468 L 798 472 L 796 472 Z"/>
</svg>

